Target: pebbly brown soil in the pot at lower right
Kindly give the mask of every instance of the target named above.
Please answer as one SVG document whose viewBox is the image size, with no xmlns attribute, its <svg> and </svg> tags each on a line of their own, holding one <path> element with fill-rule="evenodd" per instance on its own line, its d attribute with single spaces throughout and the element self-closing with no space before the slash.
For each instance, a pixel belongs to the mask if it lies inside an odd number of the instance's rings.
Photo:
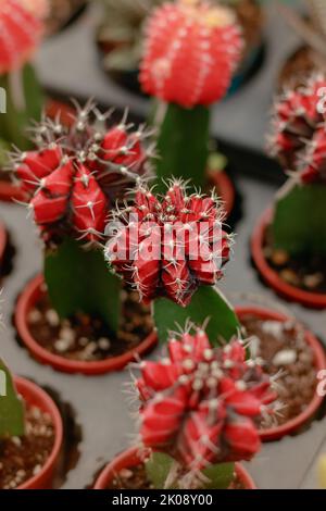
<svg viewBox="0 0 326 511">
<path fill-rule="evenodd" d="M 314 398 L 317 385 L 314 352 L 305 331 L 294 320 L 262 320 L 253 314 L 241 316 L 247 335 L 264 370 L 277 375 L 278 396 L 284 408 L 275 421 L 261 422 L 262 429 L 280 426 L 302 413 Z"/>
</svg>

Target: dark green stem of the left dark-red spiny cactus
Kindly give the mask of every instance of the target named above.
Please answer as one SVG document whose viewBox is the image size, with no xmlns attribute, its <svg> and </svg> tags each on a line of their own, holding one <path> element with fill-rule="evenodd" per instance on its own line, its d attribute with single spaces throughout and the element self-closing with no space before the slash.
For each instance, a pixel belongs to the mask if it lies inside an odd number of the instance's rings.
<svg viewBox="0 0 326 511">
<path fill-rule="evenodd" d="M 86 250 L 65 238 L 59 248 L 47 251 L 45 278 L 52 306 L 61 319 L 86 313 L 101 319 L 116 333 L 121 317 L 121 282 L 108 272 L 103 251 Z"/>
</svg>

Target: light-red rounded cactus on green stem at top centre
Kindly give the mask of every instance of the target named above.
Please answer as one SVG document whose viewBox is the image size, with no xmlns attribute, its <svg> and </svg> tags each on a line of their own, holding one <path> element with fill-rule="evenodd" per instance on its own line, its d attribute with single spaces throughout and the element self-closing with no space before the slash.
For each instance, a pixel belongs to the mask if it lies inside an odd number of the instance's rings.
<svg viewBox="0 0 326 511">
<path fill-rule="evenodd" d="M 202 0 L 164 3 L 149 17 L 140 83 L 159 99 L 158 186 L 161 178 L 190 178 L 204 188 L 210 105 L 227 92 L 242 52 L 233 10 Z"/>
</svg>

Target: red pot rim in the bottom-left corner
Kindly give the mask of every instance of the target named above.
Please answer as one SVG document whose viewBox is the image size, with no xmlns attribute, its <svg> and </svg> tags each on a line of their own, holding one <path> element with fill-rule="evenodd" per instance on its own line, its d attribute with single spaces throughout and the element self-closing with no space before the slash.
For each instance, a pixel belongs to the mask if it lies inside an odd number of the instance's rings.
<svg viewBox="0 0 326 511">
<path fill-rule="evenodd" d="M 34 383 L 22 377 L 15 377 L 14 383 L 24 401 L 48 413 L 54 426 L 54 445 L 46 464 L 38 474 L 18 486 L 17 489 L 50 489 L 63 440 L 63 425 L 60 412 L 50 396 Z"/>
</svg>

